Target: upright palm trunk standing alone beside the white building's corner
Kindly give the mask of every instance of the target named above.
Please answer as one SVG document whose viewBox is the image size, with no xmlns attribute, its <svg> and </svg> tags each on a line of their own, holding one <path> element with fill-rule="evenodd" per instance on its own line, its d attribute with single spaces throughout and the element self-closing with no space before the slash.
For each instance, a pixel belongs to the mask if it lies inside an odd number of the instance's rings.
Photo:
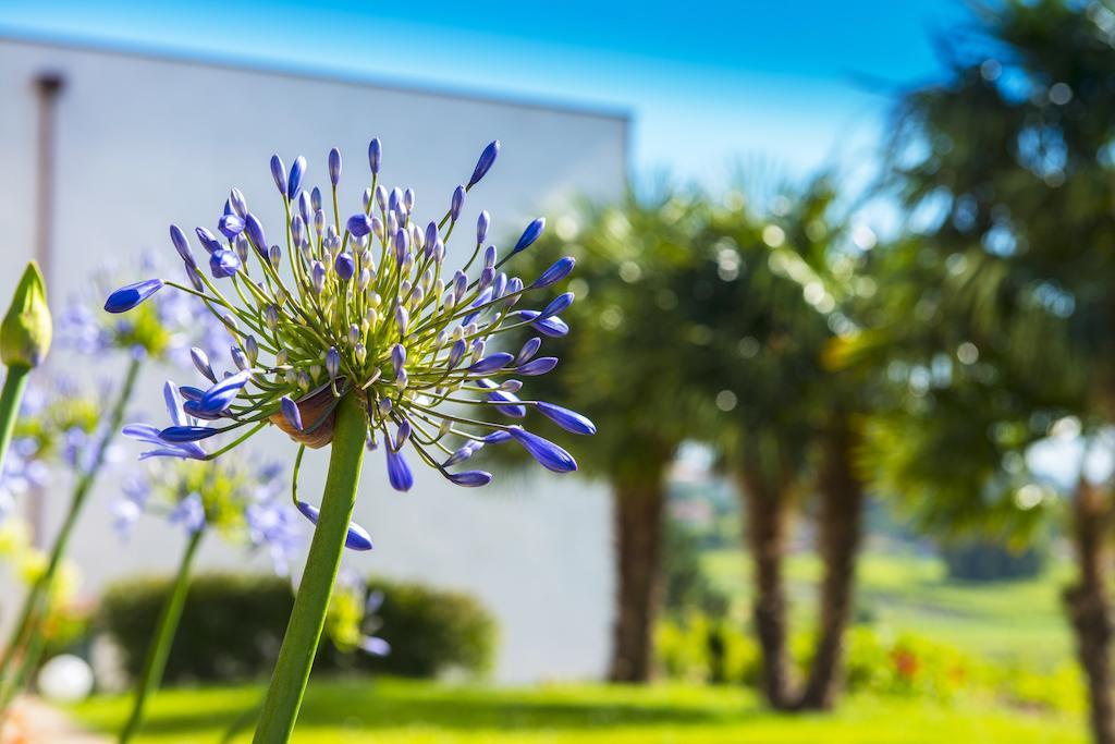
<svg viewBox="0 0 1115 744">
<path fill-rule="evenodd" d="M 662 474 L 614 484 L 617 607 L 612 682 L 648 682 L 653 673 L 655 621 L 661 603 Z"/>
</svg>

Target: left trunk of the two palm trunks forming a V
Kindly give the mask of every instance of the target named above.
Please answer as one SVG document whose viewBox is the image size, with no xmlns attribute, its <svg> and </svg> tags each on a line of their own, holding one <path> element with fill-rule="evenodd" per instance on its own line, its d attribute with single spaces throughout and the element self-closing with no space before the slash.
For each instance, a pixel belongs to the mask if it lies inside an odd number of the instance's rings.
<svg viewBox="0 0 1115 744">
<path fill-rule="evenodd" d="M 789 521 L 787 494 L 772 486 L 757 463 L 738 475 L 747 514 L 747 542 L 754 562 L 755 630 L 763 654 L 763 693 L 775 709 L 787 709 L 789 660 L 786 651 L 786 593 L 782 561 Z"/>
</svg>

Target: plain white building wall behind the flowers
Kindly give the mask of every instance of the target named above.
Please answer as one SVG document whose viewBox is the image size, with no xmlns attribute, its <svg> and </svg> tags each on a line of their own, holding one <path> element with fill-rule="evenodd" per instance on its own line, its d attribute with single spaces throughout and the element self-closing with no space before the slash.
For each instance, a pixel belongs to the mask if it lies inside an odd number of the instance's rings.
<svg viewBox="0 0 1115 744">
<path fill-rule="evenodd" d="M 309 182 L 320 184 L 328 181 L 326 153 L 340 147 L 341 189 L 355 209 L 366 182 L 367 144 L 378 136 L 387 182 L 414 186 L 418 213 L 433 218 L 467 180 L 484 145 L 500 138 L 500 161 L 469 195 L 463 224 L 487 209 L 494 234 L 504 238 L 517 235 L 536 214 L 558 215 L 573 193 L 619 195 L 626 176 L 622 116 L 0 39 L 0 255 L 8 267 L 0 270 L 0 297 L 9 296 L 33 252 L 32 80 L 45 70 L 65 78 L 48 277 L 59 308 L 106 260 L 133 263 L 129 276 L 136 279 L 144 249 L 157 249 L 175 265 L 167 224 L 215 228 L 233 185 L 265 225 L 279 224 L 268 168 L 272 152 L 288 164 L 304 154 Z M 466 242 L 450 244 L 450 254 Z M 90 374 L 89 363 L 72 356 L 55 355 L 52 364 Z M 158 390 L 167 374 L 147 370 L 137 414 L 162 415 Z M 274 433 L 260 445 L 268 455 L 294 454 L 293 444 Z M 324 465 L 321 453 L 307 457 L 303 489 L 323 482 Z M 171 570 L 182 544 L 180 534 L 146 519 L 122 545 L 108 513 L 115 486 L 106 479 L 98 489 L 72 550 L 90 596 L 123 574 Z M 48 495 L 52 523 L 62 501 L 61 492 Z M 376 550 L 350 555 L 353 568 L 464 589 L 494 611 L 502 636 L 498 679 L 603 671 L 612 576 L 600 486 L 541 472 L 472 491 L 423 472 L 409 494 L 397 494 L 386 484 L 382 455 L 371 453 L 357 519 L 372 533 Z M 214 540 L 203 552 L 204 566 L 244 563 L 242 551 Z M 11 598 L 9 587 L 4 599 Z"/>
</svg>

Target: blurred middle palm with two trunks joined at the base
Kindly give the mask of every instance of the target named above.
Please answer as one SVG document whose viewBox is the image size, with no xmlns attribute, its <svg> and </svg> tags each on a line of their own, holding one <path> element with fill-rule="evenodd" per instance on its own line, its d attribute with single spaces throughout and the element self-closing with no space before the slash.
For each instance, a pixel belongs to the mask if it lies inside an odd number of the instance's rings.
<svg viewBox="0 0 1115 744">
<path fill-rule="evenodd" d="M 835 197 L 827 176 L 765 200 L 729 193 L 695 241 L 699 261 L 683 280 L 701 347 L 689 359 L 687 389 L 739 484 L 764 693 L 780 709 L 834 703 L 862 532 L 855 458 L 873 376 L 865 367 L 834 373 L 825 357 L 854 327 L 849 313 L 870 288 L 860 273 L 870 254 L 847 240 Z M 825 577 L 813 663 L 798 693 L 788 678 L 782 563 L 796 502 L 814 493 Z"/>
</svg>

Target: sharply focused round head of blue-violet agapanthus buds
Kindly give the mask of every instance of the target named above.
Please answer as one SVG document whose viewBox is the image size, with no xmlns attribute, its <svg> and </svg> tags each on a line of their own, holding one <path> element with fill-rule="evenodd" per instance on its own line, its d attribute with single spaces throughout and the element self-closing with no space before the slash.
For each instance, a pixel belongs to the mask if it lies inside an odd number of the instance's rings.
<svg viewBox="0 0 1115 744">
<path fill-rule="evenodd" d="M 485 485 L 492 475 L 450 468 L 487 444 L 512 439 L 551 471 L 575 470 L 568 452 L 514 423 L 533 406 L 570 432 L 595 432 L 575 412 L 516 395 L 520 378 L 545 374 L 558 359 L 537 356 L 539 337 L 521 349 L 500 348 L 500 334 L 526 326 L 540 336 L 569 332 L 560 313 L 572 293 L 550 298 L 541 309 L 520 302 L 552 291 L 573 269 L 573 259 L 559 260 L 530 282 L 508 276 L 504 264 L 537 240 L 545 222 L 533 221 L 501 258 L 487 242 L 491 216 L 481 212 L 460 268 L 447 268 L 447 244 L 465 196 L 498 152 L 500 143 L 491 143 L 468 183 L 454 190 L 445 215 L 425 224 L 415 212 L 414 190 L 379 183 L 378 139 L 368 147 L 371 178 L 362 206 L 349 214 L 338 205 L 337 149 L 329 153 L 331 189 L 324 195 L 303 189 L 306 158 L 288 170 L 274 156 L 271 172 L 285 213 L 279 243 L 269 242 L 263 223 L 233 189 L 217 223 L 221 238 L 196 230 L 212 278 L 185 233 L 172 225 L 190 284 L 163 279 L 129 284 L 113 292 L 105 309 L 130 310 L 164 286 L 197 296 L 234 338 L 235 369 L 219 374 L 209 356 L 195 350 L 207 387 L 178 388 L 183 404 L 169 406 L 172 426 L 129 427 L 154 445 L 148 456 L 211 458 L 269 423 L 304 446 L 324 446 L 332 439 L 338 402 L 357 395 L 367 408 L 368 446 L 382 442 L 397 490 L 413 484 L 408 447 L 464 486 Z M 477 408 L 498 416 L 474 415 Z M 241 428 L 245 433 L 217 452 L 198 444 Z M 300 509 L 313 519 L 312 506 Z"/>
</svg>

